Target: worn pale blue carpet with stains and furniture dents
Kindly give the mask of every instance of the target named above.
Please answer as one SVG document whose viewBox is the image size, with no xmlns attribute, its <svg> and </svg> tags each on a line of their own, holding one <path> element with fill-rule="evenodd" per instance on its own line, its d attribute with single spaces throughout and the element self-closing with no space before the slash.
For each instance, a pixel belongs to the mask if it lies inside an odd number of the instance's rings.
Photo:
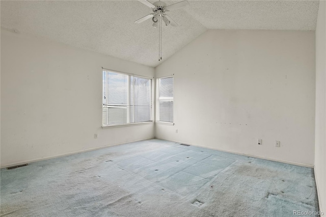
<svg viewBox="0 0 326 217">
<path fill-rule="evenodd" d="M 147 140 L 1 169 L 1 216 L 293 216 L 313 169 Z"/>
</svg>

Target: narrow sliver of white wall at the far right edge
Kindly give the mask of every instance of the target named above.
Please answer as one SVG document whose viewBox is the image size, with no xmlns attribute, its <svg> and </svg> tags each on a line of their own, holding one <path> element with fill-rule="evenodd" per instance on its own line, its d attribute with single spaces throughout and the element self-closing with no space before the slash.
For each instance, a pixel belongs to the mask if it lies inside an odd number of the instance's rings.
<svg viewBox="0 0 326 217">
<path fill-rule="evenodd" d="M 316 26 L 315 175 L 319 208 L 326 212 L 326 2 L 319 1 Z"/>
</svg>

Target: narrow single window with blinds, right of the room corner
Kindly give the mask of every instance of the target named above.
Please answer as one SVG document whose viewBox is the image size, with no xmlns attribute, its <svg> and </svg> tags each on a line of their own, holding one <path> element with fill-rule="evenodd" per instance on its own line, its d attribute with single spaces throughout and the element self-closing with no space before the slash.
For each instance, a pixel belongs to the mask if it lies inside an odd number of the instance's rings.
<svg viewBox="0 0 326 217">
<path fill-rule="evenodd" d="M 173 77 L 157 79 L 157 121 L 173 122 Z"/>
</svg>

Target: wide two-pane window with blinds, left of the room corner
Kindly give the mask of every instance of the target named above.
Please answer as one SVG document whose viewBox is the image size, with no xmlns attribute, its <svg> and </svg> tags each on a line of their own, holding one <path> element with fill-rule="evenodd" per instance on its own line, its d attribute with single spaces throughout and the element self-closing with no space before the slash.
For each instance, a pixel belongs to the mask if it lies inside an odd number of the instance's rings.
<svg viewBox="0 0 326 217">
<path fill-rule="evenodd" d="M 103 70 L 102 125 L 152 121 L 152 79 Z"/>
</svg>

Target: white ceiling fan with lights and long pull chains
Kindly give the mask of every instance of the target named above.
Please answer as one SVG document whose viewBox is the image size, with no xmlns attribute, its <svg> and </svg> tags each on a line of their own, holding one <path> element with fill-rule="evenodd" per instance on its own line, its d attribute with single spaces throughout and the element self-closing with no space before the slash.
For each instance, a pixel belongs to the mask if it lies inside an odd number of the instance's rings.
<svg viewBox="0 0 326 217">
<path fill-rule="evenodd" d="M 154 2 L 153 4 L 146 0 L 138 0 L 138 1 L 143 3 L 144 5 L 146 5 L 147 7 L 150 7 L 152 9 L 153 13 L 148 14 L 134 22 L 141 23 L 141 22 L 144 22 L 145 20 L 152 18 L 153 27 L 159 28 L 158 61 L 160 61 L 162 59 L 162 43 L 161 43 L 162 42 L 162 29 L 161 29 L 162 28 L 162 25 L 161 25 L 162 20 L 165 22 L 166 25 L 171 24 L 172 26 L 178 26 L 178 24 L 175 21 L 173 21 L 173 19 L 171 19 L 166 13 L 169 11 L 184 8 L 184 7 L 188 6 L 189 3 L 187 1 L 182 1 L 182 2 L 178 2 L 178 3 L 167 6 L 166 3 L 161 2 L 160 0 L 158 2 Z"/>
</svg>

